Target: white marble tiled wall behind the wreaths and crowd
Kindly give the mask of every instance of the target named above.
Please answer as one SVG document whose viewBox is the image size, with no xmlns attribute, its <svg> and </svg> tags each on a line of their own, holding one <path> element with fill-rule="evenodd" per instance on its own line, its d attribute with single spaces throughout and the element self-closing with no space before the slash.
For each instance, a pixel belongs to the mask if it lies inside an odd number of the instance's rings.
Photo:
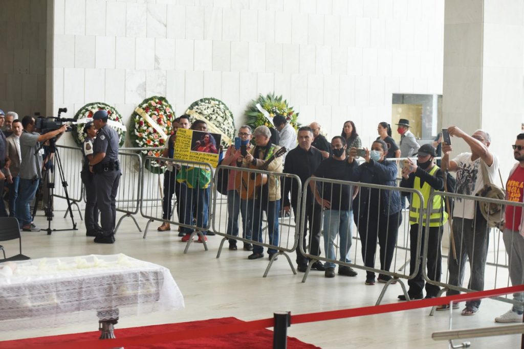
<svg viewBox="0 0 524 349">
<path fill-rule="evenodd" d="M 51 1 L 51 0 L 50 0 Z M 392 93 L 442 93 L 443 0 L 53 0 L 48 112 L 101 100 L 128 118 L 165 95 L 180 115 L 222 99 L 236 125 L 275 92 L 364 142 Z"/>
</svg>

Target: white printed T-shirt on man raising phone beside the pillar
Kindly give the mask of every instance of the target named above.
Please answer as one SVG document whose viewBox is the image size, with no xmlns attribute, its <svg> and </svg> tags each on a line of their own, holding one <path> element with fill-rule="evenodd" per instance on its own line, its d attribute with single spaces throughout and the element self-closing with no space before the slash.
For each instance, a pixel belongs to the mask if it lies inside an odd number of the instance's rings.
<svg viewBox="0 0 524 349">
<path fill-rule="evenodd" d="M 465 195 L 475 195 L 484 187 L 484 177 L 482 176 L 481 159 L 471 160 L 471 153 L 462 153 L 452 160 L 459 166 L 456 171 L 457 185 L 456 193 Z M 498 157 L 493 155 L 493 164 L 486 166 L 486 170 L 491 183 L 495 183 L 498 172 Z M 455 199 L 453 217 L 473 219 L 475 217 L 475 201 Z"/>
</svg>

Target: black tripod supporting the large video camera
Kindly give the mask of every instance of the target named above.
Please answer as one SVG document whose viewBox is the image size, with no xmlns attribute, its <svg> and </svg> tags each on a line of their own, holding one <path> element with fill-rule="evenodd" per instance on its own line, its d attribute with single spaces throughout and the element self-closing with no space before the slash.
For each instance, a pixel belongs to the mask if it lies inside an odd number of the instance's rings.
<svg viewBox="0 0 524 349">
<path fill-rule="evenodd" d="M 67 206 L 68 206 L 68 210 L 66 211 L 66 214 L 67 212 L 69 212 L 69 215 L 71 217 L 71 221 L 73 222 L 73 228 L 72 229 L 51 229 L 51 221 L 53 220 L 53 215 L 52 215 L 52 205 L 53 205 L 53 192 L 54 192 L 54 178 L 53 178 L 53 181 L 51 182 L 47 182 L 47 178 L 48 178 L 48 175 L 49 175 L 49 171 L 50 170 L 47 170 L 45 172 L 45 174 L 43 175 L 42 177 L 42 182 L 40 183 L 40 188 L 38 189 L 38 193 L 41 192 L 41 189 L 43 187 L 44 184 L 47 185 L 47 189 L 49 190 L 48 192 L 48 195 L 47 195 L 47 234 L 48 235 L 51 235 L 51 232 L 52 231 L 67 231 L 67 230 L 78 230 L 77 229 L 77 223 L 75 223 L 74 221 L 74 217 L 73 217 L 73 210 L 71 208 L 71 200 L 69 199 L 69 193 L 68 193 L 68 183 L 67 181 L 65 181 L 65 176 L 64 176 L 64 171 L 63 171 L 63 167 L 62 167 L 62 161 L 60 160 L 60 154 L 58 152 L 58 149 L 57 149 L 57 145 L 56 145 L 56 141 L 57 141 L 57 138 L 51 138 L 49 140 L 49 156 L 51 156 L 51 154 L 54 154 L 54 160 L 55 160 L 55 163 L 56 163 L 56 168 L 58 168 L 58 174 L 60 176 L 60 182 L 62 183 L 62 188 L 64 189 L 64 194 L 65 194 L 65 200 L 67 201 Z M 38 152 L 39 150 L 37 150 Z M 38 196 L 37 196 L 38 197 Z M 37 211 L 37 207 L 38 207 L 38 201 L 39 200 L 35 200 L 35 206 L 33 207 L 33 211 L 32 211 L 32 217 L 33 219 L 35 219 L 35 215 L 36 215 L 36 211 Z"/>
</svg>

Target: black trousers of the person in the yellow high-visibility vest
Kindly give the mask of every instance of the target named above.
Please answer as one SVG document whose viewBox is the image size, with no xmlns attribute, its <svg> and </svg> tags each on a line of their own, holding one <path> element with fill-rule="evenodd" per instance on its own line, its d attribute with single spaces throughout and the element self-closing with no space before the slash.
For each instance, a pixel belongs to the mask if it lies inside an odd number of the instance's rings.
<svg viewBox="0 0 524 349">
<path fill-rule="evenodd" d="M 417 245 L 420 246 L 420 264 L 417 275 L 408 280 L 410 296 L 416 296 L 426 290 L 427 297 L 436 297 L 439 293 L 440 287 L 427 284 L 424 282 L 422 277 L 422 254 L 424 249 L 424 239 L 425 239 L 425 227 L 422 227 L 422 237 L 421 240 L 417 239 L 417 232 L 419 229 L 419 224 L 412 224 L 409 230 L 409 248 L 411 260 L 409 262 L 409 274 L 413 274 L 415 270 L 415 262 L 417 261 Z M 428 258 L 427 258 L 427 271 L 428 277 L 433 281 L 440 281 L 440 276 L 442 274 L 442 251 L 441 251 L 441 242 L 442 242 L 442 226 L 441 227 L 430 227 L 429 228 L 429 241 L 428 241 Z"/>
</svg>

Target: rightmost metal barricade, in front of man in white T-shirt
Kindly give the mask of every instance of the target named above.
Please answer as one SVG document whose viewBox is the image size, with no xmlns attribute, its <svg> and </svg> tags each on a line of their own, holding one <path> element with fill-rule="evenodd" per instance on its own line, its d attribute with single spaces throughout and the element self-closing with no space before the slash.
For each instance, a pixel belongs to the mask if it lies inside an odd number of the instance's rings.
<svg viewBox="0 0 524 349">
<path fill-rule="evenodd" d="M 450 237 L 447 240 L 450 242 L 449 248 L 444 250 L 443 253 L 443 258 L 447 260 L 445 278 L 443 278 L 446 282 L 436 282 L 431 279 L 425 271 L 425 265 L 428 262 L 428 255 L 432 249 L 434 249 L 434 246 L 431 246 L 428 240 L 429 233 L 425 233 L 426 239 L 424 239 L 422 253 L 422 271 L 425 282 L 442 287 L 439 296 L 446 290 L 447 294 L 453 295 L 460 292 L 472 292 L 475 290 L 483 290 L 484 288 L 495 289 L 510 285 L 512 253 L 516 252 L 514 250 L 508 252 L 505 245 L 508 243 L 511 245 L 515 236 L 511 235 L 511 231 L 503 232 L 498 228 L 489 228 L 486 224 L 486 220 L 492 216 L 490 216 L 489 211 L 487 211 L 486 217 L 484 217 L 479 209 L 479 205 L 492 205 L 492 207 L 493 205 L 502 205 L 506 210 L 508 210 L 517 207 L 524 208 L 524 203 L 443 192 L 434 192 L 431 194 L 429 202 L 432 203 L 432 198 L 435 196 L 441 196 L 444 199 L 453 199 L 454 213 L 456 217 L 452 218 L 452 229 L 450 229 Z M 473 205 L 473 218 L 471 219 L 458 217 L 467 216 L 467 214 L 462 213 L 468 212 L 466 205 Z M 497 211 L 497 220 L 503 218 L 503 212 L 504 210 Z M 518 218 L 516 226 L 518 227 L 519 224 L 520 218 Z M 518 233 L 515 234 L 518 235 Z M 495 244 L 495 246 L 493 246 L 493 251 L 489 251 L 490 235 L 494 235 L 494 241 L 500 242 L 500 240 L 505 240 L 502 244 Z M 504 237 L 504 239 L 501 237 Z M 520 238 L 520 236 L 517 236 L 517 238 Z M 495 256 L 495 263 L 488 262 L 488 256 L 490 254 Z M 506 257 L 506 254 L 508 257 Z M 515 258 L 520 260 L 520 256 L 515 256 Z M 507 260 L 508 263 L 497 263 L 497 261 L 502 259 Z M 468 267 L 466 267 L 466 262 L 469 263 Z M 470 278 L 467 287 L 462 286 L 465 277 Z M 518 284 L 521 284 L 522 275 L 520 275 L 520 278 L 517 276 L 517 279 Z M 512 281 L 515 282 L 515 279 Z M 507 297 L 494 297 L 494 299 L 512 304 L 522 304 L 522 301 L 509 299 Z M 522 298 L 522 300 L 524 300 L 524 298 Z M 472 307 L 478 309 L 480 302 L 478 301 L 478 303 L 475 303 L 475 301 L 473 301 L 471 304 Z M 433 314 L 434 310 L 435 308 L 431 310 L 430 315 Z"/>
</svg>

